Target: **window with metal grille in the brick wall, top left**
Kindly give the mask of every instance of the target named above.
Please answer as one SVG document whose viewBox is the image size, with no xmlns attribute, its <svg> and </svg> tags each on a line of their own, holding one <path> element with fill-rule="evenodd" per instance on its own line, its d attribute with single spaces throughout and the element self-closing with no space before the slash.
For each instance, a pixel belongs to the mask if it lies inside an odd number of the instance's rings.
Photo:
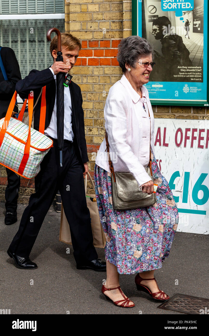
<svg viewBox="0 0 209 336">
<path fill-rule="evenodd" d="M 46 33 L 52 27 L 64 32 L 64 0 L 0 0 L 0 11 L 0 45 L 14 50 L 22 78 L 50 67 Z"/>
</svg>

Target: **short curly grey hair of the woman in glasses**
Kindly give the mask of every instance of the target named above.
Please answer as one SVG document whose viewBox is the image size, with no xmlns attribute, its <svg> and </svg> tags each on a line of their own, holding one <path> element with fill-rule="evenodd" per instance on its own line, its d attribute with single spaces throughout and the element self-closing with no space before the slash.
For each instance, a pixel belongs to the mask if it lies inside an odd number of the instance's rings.
<svg viewBox="0 0 209 336">
<path fill-rule="evenodd" d="M 126 72 L 125 64 L 136 68 L 136 62 L 143 56 L 152 54 L 153 47 L 145 38 L 132 35 L 120 41 L 117 60 L 122 72 Z"/>
</svg>

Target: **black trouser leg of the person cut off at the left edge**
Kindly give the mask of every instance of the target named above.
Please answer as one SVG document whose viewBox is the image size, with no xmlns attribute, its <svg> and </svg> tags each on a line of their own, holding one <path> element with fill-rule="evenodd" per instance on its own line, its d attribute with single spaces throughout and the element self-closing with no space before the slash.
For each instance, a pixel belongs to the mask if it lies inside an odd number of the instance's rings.
<svg viewBox="0 0 209 336">
<path fill-rule="evenodd" d="M 20 176 L 15 174 L 12 170 L 6 168 L 7 172 L 7 187 L 5 190 L 5 208 L 8 212 L 15 212 L 17 210 L 17 199 L 19 195 Z"/>
</svg>

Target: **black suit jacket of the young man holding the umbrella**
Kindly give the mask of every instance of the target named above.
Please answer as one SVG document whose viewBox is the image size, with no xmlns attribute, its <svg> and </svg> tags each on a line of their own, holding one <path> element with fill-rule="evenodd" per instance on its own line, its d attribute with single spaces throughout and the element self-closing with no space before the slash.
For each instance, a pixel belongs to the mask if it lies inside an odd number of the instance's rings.
<svg viewBox="0 0 209 336">
<path fill-rule="evenodd" d="M 72 77 L 72 76 L 71 76 Z M 16 84 L 16 91 L 22 99 L 28 98 L 31 91 L 34 92 L 34 104 L 41 92 L 41 88 L 46 86 L 46 120 L 45 129 L 49 126 L 52 112 L 54 109 L 55 95 L 56 95 L 56 81 L 49 68 L 44 70 L 31 70 L 29 75 L 20 80 Z M 82 108 L 82 94 L 80 87 L 70 82 L 68 86 L 70 90 L 72 103 L 72 131 L 74 134 L 73 142 L 75 141 L 76 151 L 81 163 L 88 162 L 85 128 L 84 128 L 84 111 Z M 41 110 L 41 97 L 34 109 L 34 128 L 39 130 Z M 83 171 L 85 171 L 83 165 Z"/>
</svg>

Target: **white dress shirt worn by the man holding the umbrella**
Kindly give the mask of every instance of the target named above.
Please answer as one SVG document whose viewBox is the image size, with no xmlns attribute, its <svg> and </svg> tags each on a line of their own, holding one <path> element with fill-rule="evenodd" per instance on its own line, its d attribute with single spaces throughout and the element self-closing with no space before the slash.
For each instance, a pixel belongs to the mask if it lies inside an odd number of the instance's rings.
<svg viewBox="0 0 209 336">
<path fill-rule="evenodd" d="M 49 68 L 54 75 L 56 81 L 56 75 L 52 68 Z M 57 90 L 57 88 L 56 88 Z M 52 112 L 51 121 L 49 126 L 45 129 L 44 134 L 57 139 L 57 95 L 55 96 L 54 109 Z M 64 139 L 73 142 L 74 134 L 72 131 L 72 104 L 70 97 L 69 87 L 64 87 Z"/>
</svg>

